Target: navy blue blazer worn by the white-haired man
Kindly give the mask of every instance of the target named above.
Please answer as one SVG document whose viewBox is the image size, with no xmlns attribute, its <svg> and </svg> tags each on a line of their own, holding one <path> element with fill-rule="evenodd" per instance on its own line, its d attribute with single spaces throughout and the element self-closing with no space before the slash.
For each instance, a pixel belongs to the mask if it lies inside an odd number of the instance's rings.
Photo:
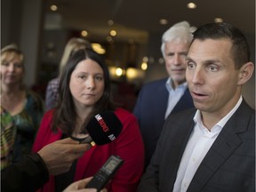
<svg viewBox="0 0 256 192">
<path fill-rule="evenodd" d="M 156 142 L 164 126 L 164 116 L 169 98 L 169 92 L 165 86 L 166 81 L 167 78 L 164 78 L 145 84 L 140 90 L 138 100 L 133 109 L 133 114 L 138 118 L 145 145 L 145 167 L 150 162 L 156 148 Z M 172 113 L 193 107 L 193 100 L 187 89 L 173 108 Z"/>
</svg>

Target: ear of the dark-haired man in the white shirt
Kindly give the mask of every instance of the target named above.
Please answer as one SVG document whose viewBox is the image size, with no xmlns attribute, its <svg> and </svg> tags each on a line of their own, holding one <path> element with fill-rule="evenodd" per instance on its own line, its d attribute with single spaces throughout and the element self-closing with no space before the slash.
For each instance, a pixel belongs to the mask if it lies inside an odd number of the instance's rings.
<svg viewBox="0 0 256 192">
<path fill-rule="evenodd" d="M 245 84 L 252 76 L 254 65 L 252 62 L 245 63 L 242 68 L 239 69 L 239 79 L 237 84 Z"/>
</svg>

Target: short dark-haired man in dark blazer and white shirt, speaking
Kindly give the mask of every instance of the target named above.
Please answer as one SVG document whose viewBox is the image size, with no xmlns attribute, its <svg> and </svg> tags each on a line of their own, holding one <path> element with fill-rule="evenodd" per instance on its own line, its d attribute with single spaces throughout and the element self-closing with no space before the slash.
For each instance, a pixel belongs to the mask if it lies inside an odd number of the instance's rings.
<svg viewBox="0 0 256 192">
<path fill-rule="evenodd" d="M 255 110 L 241 95 L 254 70 L 249 46 L 227 23 L 193 35 L 186 78 L 196 109 L 166 119 L 139 191 L 255 191 Z"/>
</svg>

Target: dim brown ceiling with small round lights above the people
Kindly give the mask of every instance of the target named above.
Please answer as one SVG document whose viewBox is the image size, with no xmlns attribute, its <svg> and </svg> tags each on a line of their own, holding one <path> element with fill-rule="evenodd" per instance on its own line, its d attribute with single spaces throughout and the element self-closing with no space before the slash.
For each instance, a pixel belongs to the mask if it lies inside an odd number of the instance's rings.
<svg viewBox="0 0 256 192">
<path fill-rule="evenodd" d="M 106 38 L 109 30 L 117 30 L 117 39 L 133 38 L 143 43 L 149 34 L 163 34 L 172 24 L 188 20 L 193 26 L 220 17 L 245 34 L 255 34 L 255 0 L 196 0 L 196 9 L 187 8 L 184 0 L 46 0 L 47 28 L 86 29 L 91 36 Z M 58 5 L 50 12 L 50 4 Z M 169 20 L 161 26 L 160 19 Z M 108 20 L 114 20 L 112 27 Z"/>
</svg>

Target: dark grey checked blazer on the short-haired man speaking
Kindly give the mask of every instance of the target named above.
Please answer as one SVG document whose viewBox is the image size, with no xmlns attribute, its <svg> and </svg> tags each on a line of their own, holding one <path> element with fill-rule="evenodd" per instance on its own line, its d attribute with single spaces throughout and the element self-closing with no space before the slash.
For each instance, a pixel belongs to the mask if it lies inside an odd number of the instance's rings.
<svg viewBox="0 0 256 192">
<path fill-rule="evenodd" d="M 195 114 L 196 109 L 190 108 L 168 116 L 138 191 L 172 191 Z M 244 100 L 204 156 L 187 190 L 219 191 L 255 191 L 255 110 Z"/>
</svg>

